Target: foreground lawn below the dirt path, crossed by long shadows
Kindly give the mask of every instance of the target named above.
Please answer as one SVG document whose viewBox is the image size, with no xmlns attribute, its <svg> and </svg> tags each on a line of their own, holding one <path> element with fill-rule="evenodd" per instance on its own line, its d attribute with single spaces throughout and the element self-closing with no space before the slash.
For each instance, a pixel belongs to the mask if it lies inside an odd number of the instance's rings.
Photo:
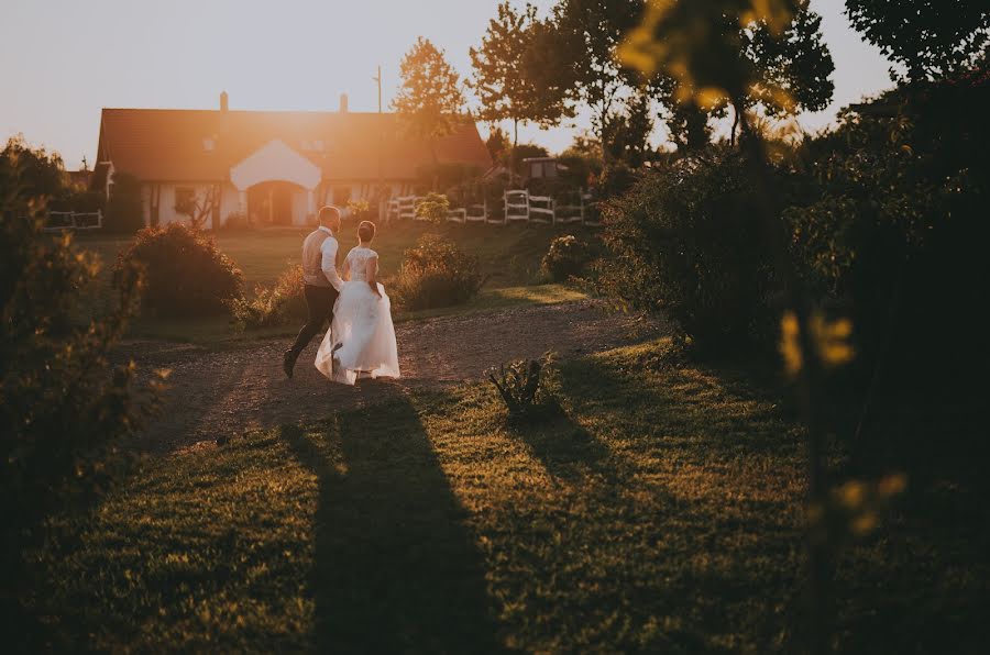
<svg viewBox="0 0 990 655">
<path fill-rule="evenodd" d="M 563 363 L 563 412 L 532 428 L 506 426 L 475 385 L 150 460 L 37 554 L 43 636 L 109 651 L 793 651 L 801 431 L 738 376 L 666 365 L 667 348 Z M 987 629 L 964 608 L 990 570 L 972 566 L 975 544 L 932 534 L 901 517 L 847 551 L 839 651 L 978 650 Z M 942 614 L 955 622 L 931 621 Z"/>
</svg>

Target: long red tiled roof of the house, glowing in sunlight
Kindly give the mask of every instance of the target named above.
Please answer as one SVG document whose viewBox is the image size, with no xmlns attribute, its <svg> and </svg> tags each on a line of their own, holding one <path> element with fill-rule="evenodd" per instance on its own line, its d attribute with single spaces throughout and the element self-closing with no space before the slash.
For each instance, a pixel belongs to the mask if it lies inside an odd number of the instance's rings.
<svg viewBox="0 0 990 655">
<path fill-rule="evenodd" d="M 378 176 L 380 132 L 386 179 L 413 179 L 435 158 L 482 173 L 492 166 L 473 122 L 430 144 L 405 136 L 393 113 L 172 109 L 105 109 L 98 160 L 145 180 L 220 181 L 232 166 L 279 138 L 318 165 L 324 179 L 372 180 Z"/>
</svg>

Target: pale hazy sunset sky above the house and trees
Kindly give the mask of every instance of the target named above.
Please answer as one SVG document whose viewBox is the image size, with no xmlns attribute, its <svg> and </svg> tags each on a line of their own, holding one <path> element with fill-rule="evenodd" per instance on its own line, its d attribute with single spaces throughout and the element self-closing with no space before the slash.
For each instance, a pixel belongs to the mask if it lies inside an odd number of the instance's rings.
<svg viewBox="0 0 990 655">
<path fill-rule="evenodd" d="M 534 2 L 543 12 L 552 0 Z M 68 168 L 96 157 L 103 107 L 336 110 L 377 109 L 381 64 L 386 110 L 403 54 L 424 35 L 463 76 L 497 0 L 4 0 L 0 14 L 0 136 L 23 133 L 58 151 Z M 890 86 L 888 63 L 864 44 L 840 0 L 812 0 L 836 63 L 835 102 L 802 118 L 807 129 Z M 579 119 L 579 129 L 583 121 Z M 573 127 L 526 129 L 520 141 L 551 151 Z M 662 134 L 658 133 L 658 140 Z"/>
</svg>

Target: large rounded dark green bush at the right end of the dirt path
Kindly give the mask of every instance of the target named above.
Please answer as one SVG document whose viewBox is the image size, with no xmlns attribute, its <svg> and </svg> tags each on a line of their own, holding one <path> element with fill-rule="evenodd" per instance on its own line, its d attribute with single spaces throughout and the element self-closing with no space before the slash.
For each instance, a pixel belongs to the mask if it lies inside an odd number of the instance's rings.
<svg viewBox="0 0 990 655">
<path fill-rule="evenodd" d="M 698 346 L 769 342 L 773 276 L 740 155 L 663 164 L 605 203 L 602 290 L 663 310 Z"/>
</svg>

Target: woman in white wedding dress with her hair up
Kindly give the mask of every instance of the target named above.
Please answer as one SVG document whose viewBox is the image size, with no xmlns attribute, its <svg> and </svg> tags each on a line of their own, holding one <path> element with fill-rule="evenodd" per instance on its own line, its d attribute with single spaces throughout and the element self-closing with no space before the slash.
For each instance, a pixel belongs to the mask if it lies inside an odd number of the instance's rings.
<svg viewBox="0 0 990 655">
<path fill-rule="evenodd" d="M 362 221 L 359 243 L 344 259 L 346 280 L 333 308 L 330 330 L 317 352 L 316 367 L 334 382 L 354 385 L 359 377 L 399 377 L 392 303 L 378 284 L 378 253 L 369 247 L 375 224 Z"/>
</svg>

